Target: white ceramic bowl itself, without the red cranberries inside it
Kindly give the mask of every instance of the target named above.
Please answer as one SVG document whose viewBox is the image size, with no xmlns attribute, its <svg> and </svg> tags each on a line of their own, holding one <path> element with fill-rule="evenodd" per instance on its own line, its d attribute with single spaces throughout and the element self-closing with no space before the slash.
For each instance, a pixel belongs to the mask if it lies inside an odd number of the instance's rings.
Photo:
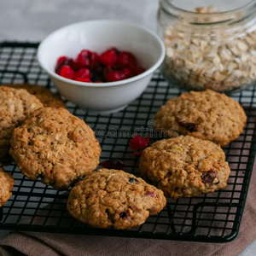
<svg viewBox="0 0 256 256">
<path fill-rule="evenodd" d="M 116 47 L 131 51 L 146 71 L 111 83 L 84 83 L 55 73 L 61 55 L 75 58 L 81 49 L 102 53 Z M 61 95 L 85 110 L 116 112 L 143 93 L 165 56 L 165 46 L 154 32 L 143 26 L 119 20 L 89 20 L 64 26 L 52 32 L 38 47 L 38 62 Z"/>
</svg>

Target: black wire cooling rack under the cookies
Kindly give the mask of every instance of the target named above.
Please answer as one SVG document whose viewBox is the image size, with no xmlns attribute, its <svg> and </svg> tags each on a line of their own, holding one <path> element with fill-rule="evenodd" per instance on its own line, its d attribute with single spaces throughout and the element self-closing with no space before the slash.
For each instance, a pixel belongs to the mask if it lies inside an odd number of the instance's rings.
<svg viewBox="0 0 256 256">
<path fill-rule="evenodd" d="M 29 82 L 55 88 L 38 67 L 38 44 L 3 42 L 0 44 L 0 83 Z M 129 148 L 131 136 L 152 131 L 150 119 L 167 99 L 182 91 L 170 87 L 160 73 L 136 101 L 119 113 L 92 114 L 67 102 L 68 110 L 90 125 L 102 145 L 102 160 L 125 161 L 125 171 L 138 175 L 138 158 Z M 247 112 L 247 125 L 241 136 L 224 148 L 230 163 L 228 186 L 196 198 L 167 200 L 167 206 L 145 224 L 131 230 L 98 230 L 70 217 L 66 211 L 68 191 L 56 191 L 39 181 L 24 177 L 12 163 L 6 172 L 15 177 L 15 188 L 9 201 L 0 208 L 0 230 L 23 230 L 130 236 L 186 241 L 225 242 L 233 240 L 241 224 L 248 185 L 255 156 L 255 88 L 233 93 Z M 125 132 L 124 132 L 125 131 Z"/>
</svg>

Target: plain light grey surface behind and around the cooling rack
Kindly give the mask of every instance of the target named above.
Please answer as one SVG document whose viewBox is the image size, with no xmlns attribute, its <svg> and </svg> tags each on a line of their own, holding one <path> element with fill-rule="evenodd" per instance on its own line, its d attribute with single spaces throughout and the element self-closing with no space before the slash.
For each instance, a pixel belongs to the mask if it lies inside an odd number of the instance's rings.
<svg viewBox="0 0 256 256">
<path fill-rule="evenodd" d="M 0 41 L 41 41 L 61 26 L 95 19 L 128 20 L 155 31 L 157 9 L 158 0 L 0 0 Z M 0 230 L 0 239 L 8 233 Z M 241 255 L 255 256 L 256 241 Z"/>
</svg>

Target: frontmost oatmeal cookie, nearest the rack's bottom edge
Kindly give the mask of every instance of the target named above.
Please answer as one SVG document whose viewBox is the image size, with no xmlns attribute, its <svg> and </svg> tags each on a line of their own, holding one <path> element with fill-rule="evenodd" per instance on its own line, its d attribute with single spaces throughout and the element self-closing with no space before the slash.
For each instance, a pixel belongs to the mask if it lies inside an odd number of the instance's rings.
<svg viewBox="0 0 256 256">
<path fill-rule="evenodd" d="M 160 189 L 119 170 L 99 169 L 71 189 L 67 211 L 97 228 L 119 230 L 141 225 L 166 206 Z"/>
</svg>

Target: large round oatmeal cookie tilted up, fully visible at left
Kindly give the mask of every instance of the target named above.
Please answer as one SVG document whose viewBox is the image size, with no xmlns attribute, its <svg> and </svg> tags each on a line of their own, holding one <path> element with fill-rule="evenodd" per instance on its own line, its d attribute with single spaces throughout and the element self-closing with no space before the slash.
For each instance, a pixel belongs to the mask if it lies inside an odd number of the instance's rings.
<svg viewBox="0 0 256 256">
<path fill-rule="evenodd" d="M 65 108 L 41 108 L 17 127 L 10 154 L 26 177 L 67 189 L 98 166 L 102 148 L 84 120 Z"/>
</svg>

